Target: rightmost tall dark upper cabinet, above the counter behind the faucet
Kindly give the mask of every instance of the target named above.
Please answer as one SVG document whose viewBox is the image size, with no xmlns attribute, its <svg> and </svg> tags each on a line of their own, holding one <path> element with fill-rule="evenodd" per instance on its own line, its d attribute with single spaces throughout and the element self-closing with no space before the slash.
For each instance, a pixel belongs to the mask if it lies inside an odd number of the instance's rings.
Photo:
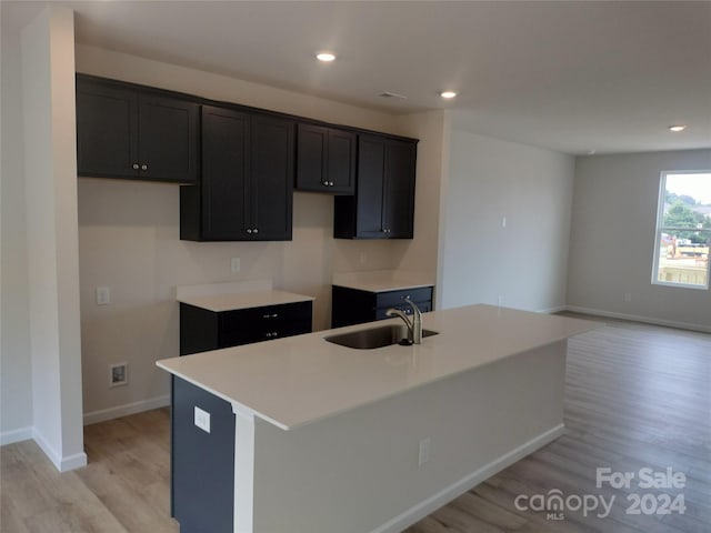
<svg viewBox="0 0 711 533">
<path fill-rule="evenodd" d="M 353 197 L 337 197 L 333 237 L 412 239 L 417 141 L 382 135 L 358 138 Z"/>
</svg>

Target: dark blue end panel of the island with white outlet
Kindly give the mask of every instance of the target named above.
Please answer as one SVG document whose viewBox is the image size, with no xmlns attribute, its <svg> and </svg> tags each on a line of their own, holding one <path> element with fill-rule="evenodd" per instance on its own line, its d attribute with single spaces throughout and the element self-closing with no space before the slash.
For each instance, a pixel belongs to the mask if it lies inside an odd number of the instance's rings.
<svg viewBox="0 0 711 533">
<path fill-rule="evenodd" d="M 232 533 L 232 406 L 180 378 L 171 379 L 171 515 L 180 533 Z M 209 414 L 209 432 L 196 425 L 196 409 Z"/>
</svg>

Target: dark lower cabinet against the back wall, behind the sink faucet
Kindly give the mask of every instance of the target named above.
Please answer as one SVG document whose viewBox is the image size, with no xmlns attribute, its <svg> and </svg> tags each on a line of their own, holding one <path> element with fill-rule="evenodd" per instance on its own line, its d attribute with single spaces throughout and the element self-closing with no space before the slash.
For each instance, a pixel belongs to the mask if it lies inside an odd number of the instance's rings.
<svg viewBox="0 0 711 533">
<path fill-rule="evenodd" d="M 331 328 L 389 319 L 385 312 L 390 308 L 411 314 L 412 308 L 404 301 L 405 298 L 414 302 L 421 312 L 432 311 L 432 286 L 371 292 L 333 285 L 331 291 Z"/>
</svg>

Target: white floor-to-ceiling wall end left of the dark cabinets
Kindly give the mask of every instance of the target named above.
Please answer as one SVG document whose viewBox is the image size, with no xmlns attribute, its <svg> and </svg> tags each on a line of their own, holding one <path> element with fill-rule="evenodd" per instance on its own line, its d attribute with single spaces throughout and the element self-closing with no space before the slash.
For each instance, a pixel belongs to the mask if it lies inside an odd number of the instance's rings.
<svg viewBox="0 0 711 533">
<path fill-rule="evenodd" d="M 81 420 L 73 12 L 21 37 L 33 438 L 60 470 L 87 463 Z"/>
</svg>

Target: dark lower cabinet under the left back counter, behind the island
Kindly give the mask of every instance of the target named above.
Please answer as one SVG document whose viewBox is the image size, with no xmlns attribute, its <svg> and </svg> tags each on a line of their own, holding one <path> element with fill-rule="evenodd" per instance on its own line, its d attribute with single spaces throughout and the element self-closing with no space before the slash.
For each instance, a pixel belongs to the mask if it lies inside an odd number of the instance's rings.
<svg viewBox="0 0 711 533">
<path fill-rule="evenodd" d="M 214 312 L 180 304 L 180 354 L 311 333 L 313 303 Z"/>
</svg>

